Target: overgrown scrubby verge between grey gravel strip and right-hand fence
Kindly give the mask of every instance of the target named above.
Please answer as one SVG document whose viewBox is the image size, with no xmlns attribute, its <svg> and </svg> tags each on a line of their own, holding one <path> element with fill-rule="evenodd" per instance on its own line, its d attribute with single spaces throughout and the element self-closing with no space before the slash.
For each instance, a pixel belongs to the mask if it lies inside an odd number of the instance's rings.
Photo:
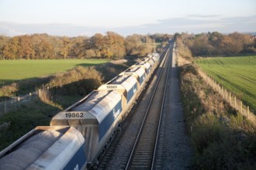
<svg viewBox="0 0 256 170">
<path fill-rule="evenodd" d="M 256 127 L 222 100 L 198 75 L 181 66 L 181 97 L 194 169 L 255 169 Z"/>
</svg>

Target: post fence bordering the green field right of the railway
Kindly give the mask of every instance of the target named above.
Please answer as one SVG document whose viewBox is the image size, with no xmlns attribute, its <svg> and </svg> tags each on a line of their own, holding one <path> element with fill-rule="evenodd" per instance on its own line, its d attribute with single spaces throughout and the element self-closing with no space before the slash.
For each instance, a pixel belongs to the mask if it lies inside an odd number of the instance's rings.
<svg viewBox="0 0 256 170">
<path fill-rule="evenodd" d="M 206 73 L 199 70 L 199 75 L 203 80 L 206 81 L 214 90 L 216 90 L 220 95 L 226 100 L 232 107 L 240 112 L 240 114 L 247 117 L 249 121 L 256 124 L 256 116 L 254 110 L 250 110 L 250 107 L 243 104 L 243 101 L 240 100 L 234 93 L 230 92 L 223 86 L 220 86 L 220 83 L 217 83 L 212 77 L 208 76 Z"/>
</svg>

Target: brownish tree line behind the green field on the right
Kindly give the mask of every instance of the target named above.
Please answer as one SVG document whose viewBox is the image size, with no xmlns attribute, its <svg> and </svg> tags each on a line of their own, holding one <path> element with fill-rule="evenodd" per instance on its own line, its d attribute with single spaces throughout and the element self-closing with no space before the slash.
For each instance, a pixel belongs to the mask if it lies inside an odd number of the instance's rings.
<svg viewBox="0 0 256 170">
<path fill-rule="evenodd" d="M 192 56 L 232 56 L 239 53 L 256 53 L 255 36 L 239 32 L 228 35 L 220 32 L 200 34 L 176 33 L 175 39 L 182 39 Z"/>
</svg>

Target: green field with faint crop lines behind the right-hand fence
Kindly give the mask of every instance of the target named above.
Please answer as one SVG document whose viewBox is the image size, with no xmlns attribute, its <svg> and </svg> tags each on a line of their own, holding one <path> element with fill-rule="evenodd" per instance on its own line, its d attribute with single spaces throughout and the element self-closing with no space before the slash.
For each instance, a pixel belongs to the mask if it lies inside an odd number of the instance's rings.
<svg viewBox="0 0 256 170">
<path fill-rule="evenodd" d="M 256 56 L 196 59 L 195 63 L 256 110 Z"/>
</svg>

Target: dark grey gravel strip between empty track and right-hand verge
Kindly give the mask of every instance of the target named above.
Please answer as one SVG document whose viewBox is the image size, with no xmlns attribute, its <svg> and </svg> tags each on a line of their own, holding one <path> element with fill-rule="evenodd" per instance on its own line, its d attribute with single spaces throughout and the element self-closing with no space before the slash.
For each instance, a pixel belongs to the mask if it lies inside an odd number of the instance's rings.
<svg viewBox="0 0 256 170">
<path fill-rule="evenodd" d="M 163 169 L 189 169 L 192 148 L 185 132 L 185 119 L 180 99 L 178 67 L 172 58 L 171 81 L 168 84 L 167 98 L 164 106 L 164 159 Z"/>
</svg>

